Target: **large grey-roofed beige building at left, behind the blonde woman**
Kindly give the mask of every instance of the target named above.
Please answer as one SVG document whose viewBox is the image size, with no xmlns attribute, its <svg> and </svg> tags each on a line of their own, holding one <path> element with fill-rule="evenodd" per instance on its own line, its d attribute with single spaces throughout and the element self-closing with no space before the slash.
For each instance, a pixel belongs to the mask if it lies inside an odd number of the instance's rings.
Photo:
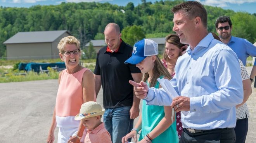
<svg viewBox="0 0 256 143">
<path fill-rule="evenodd" d="M 56 59 L 59 58 L 59 41 L 69 35 L 67 30 L 18 32 L 3 44 L 9 60 Z"/>
</svg>

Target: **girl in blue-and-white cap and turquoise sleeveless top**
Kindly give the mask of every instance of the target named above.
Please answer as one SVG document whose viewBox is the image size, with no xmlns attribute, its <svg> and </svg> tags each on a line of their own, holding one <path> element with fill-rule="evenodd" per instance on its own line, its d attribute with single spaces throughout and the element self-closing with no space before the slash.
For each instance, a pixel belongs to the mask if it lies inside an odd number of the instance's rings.
<svg viewBox="0 0 256 143">
<path fill-rule="evenodd" d="M 132 56 L 125 64 L 136 64 L 144 74 L 142 80 L 149 87 L 161 88 L 157 78 L 171 79 L 171 76 L 157 55 L 157 43 L 142 39 L 135 43 Z M 135 128 L 122 138 L 122 143 L 126 143 L 131 137 L 137 142 L 139 130 L 139 143 L 177 143 L 175 113 L 171 106 L 147 105 L 144 100 L 142 102 L 142 114 Z"/>
</svg>

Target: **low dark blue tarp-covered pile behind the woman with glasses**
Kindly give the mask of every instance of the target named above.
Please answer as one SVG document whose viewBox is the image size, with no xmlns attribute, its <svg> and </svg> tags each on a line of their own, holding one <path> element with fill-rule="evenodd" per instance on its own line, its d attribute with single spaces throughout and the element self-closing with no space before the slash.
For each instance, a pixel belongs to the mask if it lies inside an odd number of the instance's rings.
<svg viewBox="0 0 256 143">
<path fill-rule="evenodd" d="M 56 67 L 56 66 L 58 68 L 66 68 L 66 65 L 64 62 L 55 62 L 55 63 L 29 62 L 29 63 L 20 63 L 19 70 L 40 72 L 40 66 L 42 66 L 43 70 L 47 70 L 47 67 Z"/>
</svg>

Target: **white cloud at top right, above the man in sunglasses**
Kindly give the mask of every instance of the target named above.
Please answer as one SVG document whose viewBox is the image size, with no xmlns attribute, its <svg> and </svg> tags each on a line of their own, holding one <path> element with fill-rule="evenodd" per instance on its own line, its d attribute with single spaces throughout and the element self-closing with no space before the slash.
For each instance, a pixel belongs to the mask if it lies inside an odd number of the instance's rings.
<svg viewBox="0 0 256 143">
<path fill-rule="evenodd" d="M 228 7 L 231 4 L 255 3 L 256 0 L 197 0 L 204 5 L 211 5 L 217 7 Z"/>
</svg>

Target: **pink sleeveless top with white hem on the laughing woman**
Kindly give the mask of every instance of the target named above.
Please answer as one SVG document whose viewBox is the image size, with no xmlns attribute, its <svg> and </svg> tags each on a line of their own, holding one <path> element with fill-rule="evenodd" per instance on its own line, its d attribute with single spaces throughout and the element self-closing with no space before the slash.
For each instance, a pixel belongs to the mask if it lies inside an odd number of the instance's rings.
<svg viewBox="0 0 256 143">
<path fill-rule="evenodd" d="M 74 116 L 79 114 L 83 104 L 82 79 L 86 70 L 89 69 L 83 68 L 74 74 L 68 74 L 67 69 L 62 71 L 55 105 L 57 126 L 67 127 L 67 124 L 76 122 Z M 95 93 L 94 101 L 96 101 Z"/>
</svg>

